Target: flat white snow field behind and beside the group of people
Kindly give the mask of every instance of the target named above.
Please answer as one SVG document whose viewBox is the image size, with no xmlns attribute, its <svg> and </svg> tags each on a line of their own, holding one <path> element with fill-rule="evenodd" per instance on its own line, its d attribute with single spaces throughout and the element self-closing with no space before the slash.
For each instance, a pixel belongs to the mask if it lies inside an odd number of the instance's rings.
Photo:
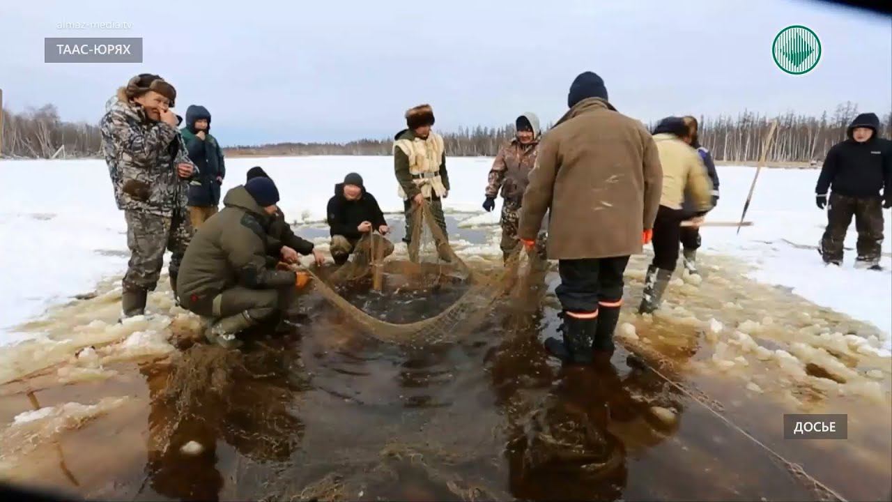
<svg viewBox="0 0 892 502">
<path fill-rule="evenodd" d="M 401 212 L 402 201 L 389 157 L 272 157 L 227 161 L 224 191 L 244 182 L 244 173 L 260 165 L 276 180 L 288 219 L 321 222 L 336 182 L 359 172 L 385 212 Z M 483 213 L 483 188 L 491 159 L 449 160 L 452 190 L 447 211 Z M 712 221 L 738 221 L 754 168 L 719 167 L 722 199 Z M 814 205 L 816 171 L 764 170 L 747 221 L 733 228 L 701 231 L 702 253 L 739 257 L 753 266 L 750 276 L 789 288 L 818 305 L 871 322 L 892 332 L 892 260 L 888 211 L 883 243 L 883 272 L 855 270 L 855 251 L 845 266 L 827 268 L 815 246 L 826 223 Z M 94 289 L 103 278 L 118 276 L 128 259 L 123 213 L 114 205 L 111 181 L 101 160 L 0 162 L 0 345 L 21 339 L 16 326 Z M 467 225 L 495 225 L 499 209 L 474 216 Z M 853 223 L 846 247 L 855 247 Z"/>
</svg>

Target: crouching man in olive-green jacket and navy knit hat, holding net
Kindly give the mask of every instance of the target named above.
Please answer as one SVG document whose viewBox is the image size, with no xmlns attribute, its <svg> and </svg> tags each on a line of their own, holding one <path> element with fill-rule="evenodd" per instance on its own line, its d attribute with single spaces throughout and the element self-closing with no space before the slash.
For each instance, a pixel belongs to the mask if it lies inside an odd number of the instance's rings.
<svg viewBox="0 0 892 502">
<path fill-rule="evenodd" d="M 269 233 L 279 200 L 276 184 L 254 178 L 223 199 L 222 211 L 195 233 L 183 256 L 178 277 L 184 308 L 213 319 L 206 336 L 220 345 L 234 345 L 235 335 L 296 306 L 296 289 L 304 277 L 276 269 L 280 242 Z"/>
</svg>

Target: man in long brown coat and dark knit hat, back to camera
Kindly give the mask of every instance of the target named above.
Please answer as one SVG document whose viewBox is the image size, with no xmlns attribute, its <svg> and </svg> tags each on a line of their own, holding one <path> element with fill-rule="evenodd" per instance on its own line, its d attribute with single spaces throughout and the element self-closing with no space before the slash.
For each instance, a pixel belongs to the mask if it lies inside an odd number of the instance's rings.
<svg viewBox="0 0 892 502">
<path fill-rule="evenodd" d="M 576 77 L 567 105 L 539 145 L 517 235 L 532 249 L 550 209 L 548 255 L 559 260 L 564 341 L 549 338 L 545 347 L 567 363 L 588 364 L 593 351 L 613 352 L 623 273 L 652 235 L 663 172 L 648 130 L 616 112 L 597 74 Z"/>
</svg>

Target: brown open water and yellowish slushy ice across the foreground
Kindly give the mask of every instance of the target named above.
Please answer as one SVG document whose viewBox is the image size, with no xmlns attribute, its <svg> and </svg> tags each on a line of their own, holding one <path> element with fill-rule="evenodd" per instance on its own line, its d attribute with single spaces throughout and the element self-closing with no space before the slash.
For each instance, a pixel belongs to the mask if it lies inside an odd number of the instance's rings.
<svg viewBox="0 0 892 502">
<path fill-rule="evenodd" d="M 393 259 L 404 255 L 398 245 Z M 202 343 L 163 287 L 147 316 L 115 324 L 120 290 L 101 285 L 29 325 L 44 336 L 4 347 L 0 477 L 137 500 L 888 496 L 880 332 L 710 255 L 703 280 L 677 276 L 664 308 L 639 318 L 646 262 L 629 267 L 621 347 L 594 369 L 545 355 L 550 293 L 506 298 L 460 342 L 433 347 L 370 339 L 310 294 L 292 333 L 260 330 L 227 351 Z M 556 274 L 545 280 L 553 291 Z M 460 292 L 345 295 L 414 322 Z M 651 369 L 630 368 L 623 346 Z M 848 414 L 848 439 L 784 440 L 784 413 Z"/>
</svg>

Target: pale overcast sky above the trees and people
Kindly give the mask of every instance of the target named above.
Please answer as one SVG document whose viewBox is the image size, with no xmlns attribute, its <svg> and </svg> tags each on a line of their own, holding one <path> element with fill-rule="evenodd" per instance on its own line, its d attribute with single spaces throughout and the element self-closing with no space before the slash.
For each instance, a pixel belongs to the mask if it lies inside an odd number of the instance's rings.
<svg viewBox="0 0 892 502">
<path fill-rule="evenodd" d="M 86 5 L 88 4 L 88 5 Z M 57 29 L 121 21 L 128 30 Z M 786 26 L 813 29 L 818 67 L 777 68 Z M 45 37 L 142 37 L 144 63 L 44 63 Z M 808 0 L 417 0 L 245 2 L 0 0 L 0 88 L 14 111 L 54 103 L 98 121 L 138 72 L 207 106 L 224 145 L 391 136 L 409 106 L 437 127 L 498 125 L 566 111 L 570 82 L 599 73 L 642 121 L 670 114 L 892 109 L 892 22 Z"/>
</svg>

